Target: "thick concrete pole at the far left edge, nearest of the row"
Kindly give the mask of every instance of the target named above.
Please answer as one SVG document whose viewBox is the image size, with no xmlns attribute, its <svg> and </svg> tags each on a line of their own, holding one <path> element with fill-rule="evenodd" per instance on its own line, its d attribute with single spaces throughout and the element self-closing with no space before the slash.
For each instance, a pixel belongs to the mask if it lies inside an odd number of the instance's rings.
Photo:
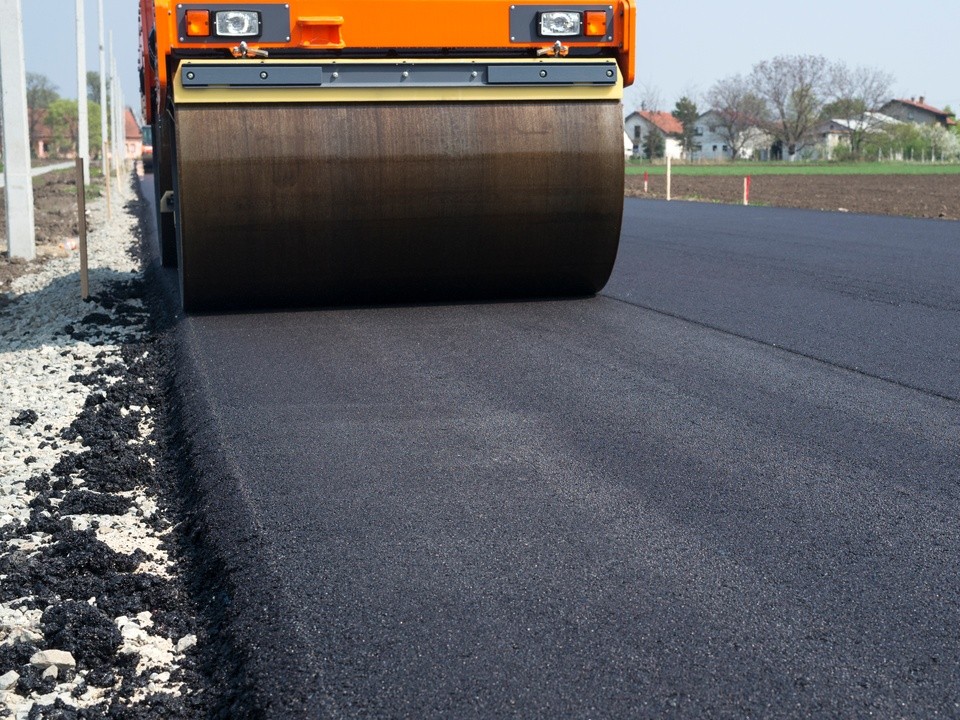
<svg viewBox="0 0 960 720">
<path fill-rule="evenodd" d="M 6 185 L 7 254 L 37 256 L 27 122 L 27 72 L 23 61 L 20 0 L 0 0 L 0 111 L 3 113 L 3 177 Z"/>
</svg>

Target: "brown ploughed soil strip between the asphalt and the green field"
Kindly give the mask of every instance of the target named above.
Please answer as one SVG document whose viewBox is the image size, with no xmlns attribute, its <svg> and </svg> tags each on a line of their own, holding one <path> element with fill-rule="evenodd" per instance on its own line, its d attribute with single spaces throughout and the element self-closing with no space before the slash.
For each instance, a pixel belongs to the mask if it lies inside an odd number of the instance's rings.
<svg viewBox="0 0 960 720">
<path fill-rule="evenodd" d="M 644 195 L 643 176 L 628 175 L 631 197 L 666 197 L 666 177 L 651 176 Z M 742 177 L 674 175 L 674 199 L 743 202 Z M 877 215 L 960 220 L 960 175 L 757 175 L 750 203 Z"/>
</svg>

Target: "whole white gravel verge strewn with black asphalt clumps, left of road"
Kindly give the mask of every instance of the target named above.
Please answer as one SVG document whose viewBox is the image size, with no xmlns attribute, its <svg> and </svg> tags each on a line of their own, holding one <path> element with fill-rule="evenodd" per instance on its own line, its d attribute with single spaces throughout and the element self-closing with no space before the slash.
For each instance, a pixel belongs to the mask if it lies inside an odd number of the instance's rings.
<svg viewBox="0 0 960 720">
<path fill-rule="evenodd" d="M 208 714 L 127 195 L 0 297 L 0 717 Z"/>
</svg>

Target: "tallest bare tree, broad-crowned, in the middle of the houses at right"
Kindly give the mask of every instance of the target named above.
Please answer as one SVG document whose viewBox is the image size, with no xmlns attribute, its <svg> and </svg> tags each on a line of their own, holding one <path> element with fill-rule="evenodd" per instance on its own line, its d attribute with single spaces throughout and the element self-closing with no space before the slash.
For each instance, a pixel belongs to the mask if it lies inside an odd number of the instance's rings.
<svg viewBox="0 0 960 720">
<path fill-rule="evenodd" d="M 830 63 L 822 55 L 778 55 L 753 66 L 750 84 L 770 108 L 770 133 L 791 159 L 814 139 L 830 92 Z"/>
</svg>

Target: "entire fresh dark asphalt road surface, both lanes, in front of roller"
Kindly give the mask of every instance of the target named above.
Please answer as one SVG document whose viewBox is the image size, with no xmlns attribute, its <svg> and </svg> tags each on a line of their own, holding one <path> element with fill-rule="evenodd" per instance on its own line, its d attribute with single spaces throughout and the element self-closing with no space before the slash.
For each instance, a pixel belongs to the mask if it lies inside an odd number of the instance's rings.
<svg viewBox="0 0 960 720">
<path fill-rule="evenodd" d="M 957 716 L 958 253 L 628 201 L 594 299 L 181 318 L 245 707 Z"/>
</svg>

